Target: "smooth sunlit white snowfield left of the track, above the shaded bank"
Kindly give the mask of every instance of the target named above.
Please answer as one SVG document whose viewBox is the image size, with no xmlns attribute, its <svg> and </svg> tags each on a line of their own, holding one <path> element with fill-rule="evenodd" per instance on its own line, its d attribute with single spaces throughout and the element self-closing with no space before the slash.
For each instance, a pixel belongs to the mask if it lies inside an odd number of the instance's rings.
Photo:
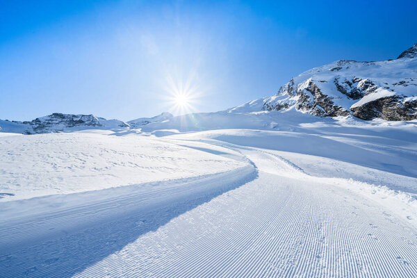
<svg viewBox="0 0 417 278">
<path fill-rule="evenodd" d="M 45 133 L 0 137 L 0 202 L 233 170 L 243 164 L 148 136 Z"/>
</svg>

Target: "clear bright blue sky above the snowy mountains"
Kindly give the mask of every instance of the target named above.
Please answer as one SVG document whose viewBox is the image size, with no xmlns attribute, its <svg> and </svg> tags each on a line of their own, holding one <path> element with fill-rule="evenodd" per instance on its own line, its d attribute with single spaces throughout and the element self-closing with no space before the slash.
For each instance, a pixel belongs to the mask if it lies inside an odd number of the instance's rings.
<svg viewBox="0 0 417 278">
<path fill-rule="evenodd" d="M 417 1 L 0 0 L 0 119 L 131 120 L 273 95 L 311 67 L 386 60 L 417 42 Z"/>
</svg>

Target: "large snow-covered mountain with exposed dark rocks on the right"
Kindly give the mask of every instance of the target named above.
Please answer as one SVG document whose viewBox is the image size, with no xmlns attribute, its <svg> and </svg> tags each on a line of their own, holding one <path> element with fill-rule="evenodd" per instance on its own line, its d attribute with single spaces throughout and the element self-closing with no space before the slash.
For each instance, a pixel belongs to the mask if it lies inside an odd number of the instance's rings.
<svg viewBox="0 0 417 278">
<path fill-rule="evenodd" d="M 363 120 L 417 119 L 417 44 L 395 60 L 338 60 L 315 67 L 281 86 L 277 95 L 229 112 L 290 108 L 320 117 L 352 114 Z"/>
</svg>

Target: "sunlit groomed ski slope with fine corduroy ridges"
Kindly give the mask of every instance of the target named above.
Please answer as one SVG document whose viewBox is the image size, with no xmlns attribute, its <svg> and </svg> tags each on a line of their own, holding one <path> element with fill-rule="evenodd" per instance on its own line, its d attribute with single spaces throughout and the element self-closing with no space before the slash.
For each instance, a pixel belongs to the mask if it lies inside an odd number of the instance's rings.
<svg viewBox="0 0 417 278">
<path fill-rule="evenodd" d="M 291 177 L 297 169 L 270 152 L 240 152 L 259 177 L 75 277 L 416 276 L 416 229 L 389 206 L 348 181 Z"/>
</svg>

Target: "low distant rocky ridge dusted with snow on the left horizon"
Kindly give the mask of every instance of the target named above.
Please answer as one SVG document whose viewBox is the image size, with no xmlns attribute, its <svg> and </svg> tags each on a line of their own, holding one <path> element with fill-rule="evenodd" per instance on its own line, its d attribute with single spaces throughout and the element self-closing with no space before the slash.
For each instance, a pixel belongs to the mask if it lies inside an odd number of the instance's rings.
<svg viewBox="0 0 417 278">
<path fill-rule="evenodd" d="M 12 133 L 50 133 L 58 131 L 78 130 L 85 128 L 126 129 L 129 124 L 120 120 L 106 120 L 94 115 L 73 115 L 52 113 L 38 117 L 30 122 L 0 120 L 1 131 Z"/>
</svg>

